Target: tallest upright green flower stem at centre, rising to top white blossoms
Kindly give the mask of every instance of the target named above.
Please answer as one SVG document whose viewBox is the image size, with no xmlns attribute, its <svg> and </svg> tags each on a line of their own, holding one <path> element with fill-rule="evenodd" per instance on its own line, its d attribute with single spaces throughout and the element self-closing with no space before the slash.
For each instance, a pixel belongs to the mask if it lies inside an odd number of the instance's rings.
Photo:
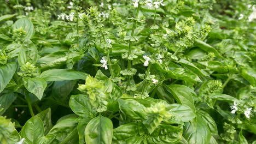
<svg viewBox="0 0 256 144">
<path fill-rule="evenodd" d="M 139 8 L 141 7 L 140 4 L 138 4 L 138 8 L 136 11 L 135 19 L 138 19 L 138 13 L 139 13 Z M 131 37 L 134 35 L 135 27 L 136 27 L 137 22 L 133 20 L 133 26 L 132 26 L 132 31 L 131 31 Z M 128 50 L 128 57 L 131 55 L 131 46 L 132 46 L 132 41 L 129 40 L 129 50 Z M 131 60 L 128 59 L 128 70 L 131 70 Z M 128 76 L 128 85 L 131 85 L 131 76 Z"/>
</svg>

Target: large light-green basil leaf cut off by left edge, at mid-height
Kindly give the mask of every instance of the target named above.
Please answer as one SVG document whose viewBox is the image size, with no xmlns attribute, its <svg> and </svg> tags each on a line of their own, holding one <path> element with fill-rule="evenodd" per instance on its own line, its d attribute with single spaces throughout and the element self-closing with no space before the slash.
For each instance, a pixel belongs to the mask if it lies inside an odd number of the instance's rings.
<svg viewBox="0 0 256 144">
<path fill-rule="evenodd" d="M 17 65 L 11 62 L 0 66 L 0 93 L 7 86 L 16 71 Z"/>
</svg>

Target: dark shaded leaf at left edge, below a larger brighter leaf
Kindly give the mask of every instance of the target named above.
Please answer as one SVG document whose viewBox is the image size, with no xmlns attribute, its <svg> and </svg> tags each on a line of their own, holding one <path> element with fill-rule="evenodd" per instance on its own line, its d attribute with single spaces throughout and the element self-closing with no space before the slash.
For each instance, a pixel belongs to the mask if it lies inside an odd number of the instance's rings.
<svg viewBox="0 0 256 144">
<path fill-rule="evenodd" d="M 13 103 L 13 101 L 17 98 L 15 93 L 7 93 L 0 96 L 0 115 L 8 109 L 8 107 Z"/>
</svg>

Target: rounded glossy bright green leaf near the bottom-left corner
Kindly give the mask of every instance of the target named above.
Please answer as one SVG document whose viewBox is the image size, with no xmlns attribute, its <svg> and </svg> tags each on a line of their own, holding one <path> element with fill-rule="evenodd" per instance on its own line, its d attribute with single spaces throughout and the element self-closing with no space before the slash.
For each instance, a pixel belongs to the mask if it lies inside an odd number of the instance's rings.
<svg viewBox="0 0 256 144">
<path fill-rule="evenodd" d="M 38 117 L 28 119 L 22 127 L 20 136 L 26 139 L 27 143 L 36 143 L 36 141 L 44 136 L 44 123 Z"/>
</svg>

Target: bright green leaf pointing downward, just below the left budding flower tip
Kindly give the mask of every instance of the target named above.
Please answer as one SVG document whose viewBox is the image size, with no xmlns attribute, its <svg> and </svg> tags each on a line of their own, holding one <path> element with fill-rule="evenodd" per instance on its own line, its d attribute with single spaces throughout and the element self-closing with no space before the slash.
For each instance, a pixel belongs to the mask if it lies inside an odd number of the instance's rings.
<svg viewBox="0 0 256 144">
<path fill-rule="evenodd" d="M 44 79 L 33 77 L 24 81 L 24 86 L 28 92 L 33 93 L 41 100 L 44 94 L 44 89 L 47 87 L 47 82 Z"/>
</svg>

